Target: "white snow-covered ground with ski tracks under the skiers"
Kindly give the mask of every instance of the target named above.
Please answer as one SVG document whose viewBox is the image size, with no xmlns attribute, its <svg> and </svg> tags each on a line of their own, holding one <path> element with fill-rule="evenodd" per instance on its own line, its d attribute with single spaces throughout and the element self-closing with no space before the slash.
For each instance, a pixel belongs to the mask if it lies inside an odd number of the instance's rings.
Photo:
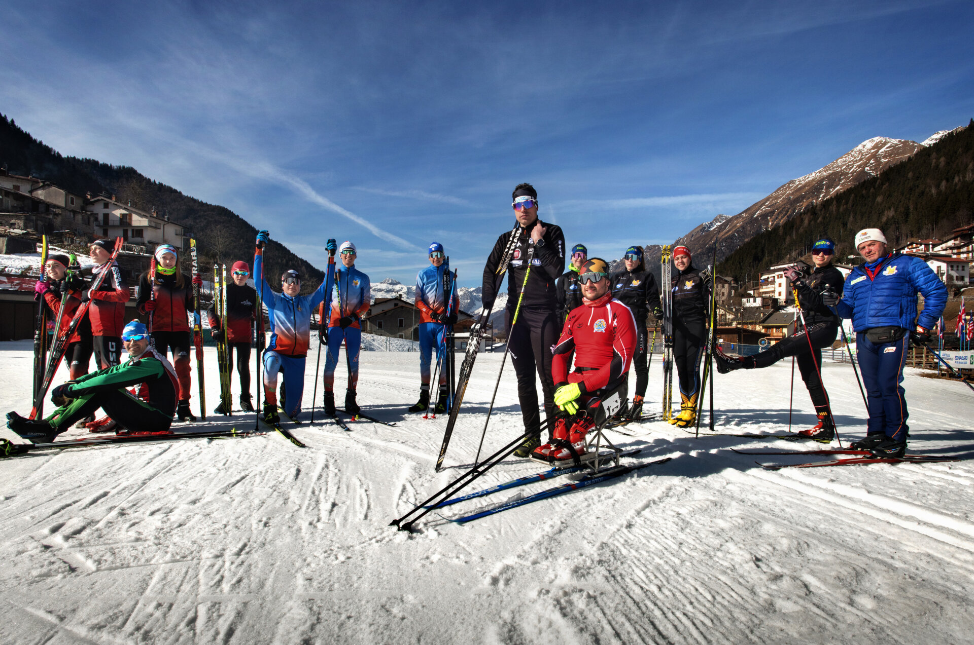
<svg viewBox="0 0 974 645">
<path fill-rule="evenodd" d="M 0 347 L 0 402 L 26 412 L 29 343 Z M 445 419 L 405 414 L 419 385 L 418 356 L 407 352 L 361 356 L 359 402 L 395 427 L 359 422 L 347 433 L 318 420 L 294 431 L 304 449 L 267 435 L 0 462 L 0 642 L 974 639 L 974 397 L 962 384 L 910 370 L 905 382 L 912 449 L 962 461 L 769 472 L 727 448 L 800 447 L 694 440 L 646 423 L 636 436 L 609 436 L 669 463 L 466 525 L 431 515 L 417 533 L 396 531 L 390 520 L 471 461 L 500 360 L 478 358 L 440 474 Z M 824 369 L 843 434 L 861 435 L 851 368 Z M 790 370 L 782 361 L 718 375 L 717 429 L 785 430 Z M 519 434 L 509 371 L 487 451 Z M 309 362 L 308 400 L 314 373 Z M 211 408 L 217 378 L 206 376 Z M 659 389 L 656 359 L 651 401 Z M 796 425 L 810 424 L 801 381 L 795 402 Z M 250 428 L 253 416 L 195 425 Z M 538 470 L 511 458 L 473 487 Z"/>
</svg>

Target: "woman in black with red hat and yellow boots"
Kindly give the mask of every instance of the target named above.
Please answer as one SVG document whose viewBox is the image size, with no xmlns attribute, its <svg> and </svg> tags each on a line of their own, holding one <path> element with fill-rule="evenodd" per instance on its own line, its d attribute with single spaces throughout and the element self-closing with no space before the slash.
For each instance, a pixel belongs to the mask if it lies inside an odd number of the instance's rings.
<svg viewBox="0 0 974 645">
<path fill-rule="evenodd" d="M 680 413 L 670 423 L 686 428 L 696 422 L 696 396 L 700 391 L 700 359 L 706 350 L 707 305 L 710 276 L 693 269 L 690 249 L 673 249 L 677 273 L 673 291 L 673 360 L 680 377 Z"/>
</svg>

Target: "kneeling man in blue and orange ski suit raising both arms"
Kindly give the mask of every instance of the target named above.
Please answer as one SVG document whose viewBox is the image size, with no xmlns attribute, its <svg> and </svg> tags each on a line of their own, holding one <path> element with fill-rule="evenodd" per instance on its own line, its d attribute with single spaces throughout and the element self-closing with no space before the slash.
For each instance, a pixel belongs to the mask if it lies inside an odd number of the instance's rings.
<svg viewBox="0 0 974 645">
<path fill-rule="evenodd" d="M 264 351 L 264 408 L 265 423 L 281 422 L 278 414 L 278 373 L 283 373 L 284 395 L 281 410 L 291 420 L 301 413 L 301 399 L 304 395 L 305 358 L 311 344 L 311 314 L 324 300 L 328 288 L 328 278 L 321 282 L 315 293 L 299 296 L 301 275 L 294 269 L 281 274 L 281 293 L 271 291 L 271 285 L 264 279 L 264 255 L 262 243 L 271 241 L 267 231 L 257 233 L 257 251 L 253 257 L 254 283 L 261 302 L 267 307 L 271 325 L 271 342 Z M 334 248 L 335 240 L 328 245 Z M 327 248 L 327 247 L 326 247 Z M 260 276 L 258 281 L 256 278 Z"/>
</svg>

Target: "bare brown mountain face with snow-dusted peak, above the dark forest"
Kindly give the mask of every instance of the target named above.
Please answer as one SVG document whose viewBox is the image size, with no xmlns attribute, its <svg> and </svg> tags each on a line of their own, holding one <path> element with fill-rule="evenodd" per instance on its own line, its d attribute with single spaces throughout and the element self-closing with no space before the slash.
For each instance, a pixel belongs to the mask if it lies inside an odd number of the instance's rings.
<svg viewBox="0 0 974 645">
<path fill-rule="evenodd" d="M 879 175 L 889 166 L 909 159 L 950 131 L 953 130 L 937 132 L 922 143 L 882 136 L 863 141 L 836 161 L 778 187 L 768 197 L 740 213 L 732 217 L 718 215 L 710 222 L 699 225 L 677 239 L 676 243 L 690 247 L 693 264 L 703 267 L 712 262 L 716 242 L 720 262 L 756 234 L 784 224 L 811 204 Z"/>
</svg>

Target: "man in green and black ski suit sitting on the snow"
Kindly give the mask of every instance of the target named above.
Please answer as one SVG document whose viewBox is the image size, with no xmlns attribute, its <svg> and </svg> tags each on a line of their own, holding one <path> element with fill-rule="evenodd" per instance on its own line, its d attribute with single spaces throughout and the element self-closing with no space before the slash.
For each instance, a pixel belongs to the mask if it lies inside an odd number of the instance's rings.
<svg viewBox="0 0 974 645">
<path fill-rule="evenodd" d="M 50 443 L 101 408 L 118 422 L 119 434 L 169 431 L 179 391 L 175 370 L 149 344 L 149 332 L 137 320 L 125 326 L 122 341 L 128 361 L 58 385 L 51 391 L 51 400 L 59 406 L 55 412 L 43 420 L 10 412 L 7 427 L 35 444 Z"/>
</svg>

